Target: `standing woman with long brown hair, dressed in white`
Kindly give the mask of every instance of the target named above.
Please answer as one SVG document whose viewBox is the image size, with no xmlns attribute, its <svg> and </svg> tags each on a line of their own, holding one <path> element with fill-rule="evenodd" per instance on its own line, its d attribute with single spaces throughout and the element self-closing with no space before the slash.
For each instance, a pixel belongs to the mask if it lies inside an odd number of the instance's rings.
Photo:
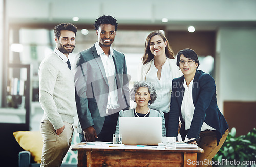
<svg viewBox="0 0 256 167">
<path fill-rule="evenodd" d="M 151 32 L 146 38 L 145 53 L 138 69 L 138 81 L 151 82 L 157 90 L 158 97 L 149 107 L 164 113 L 167 133 L 172 80 L 181 75 L 167 38 L 160 31 Z"/>
</svg>

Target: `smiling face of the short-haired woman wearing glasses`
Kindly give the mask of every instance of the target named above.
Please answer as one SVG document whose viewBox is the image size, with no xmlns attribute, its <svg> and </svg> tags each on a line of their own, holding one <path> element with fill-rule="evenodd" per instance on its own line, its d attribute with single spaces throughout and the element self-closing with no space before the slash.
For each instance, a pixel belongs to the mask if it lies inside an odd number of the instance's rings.
<svg viewBox="0 0 256 167">
<path fill-rule="evenodd" d="M 185 64 L 183 65 L 179 64 L 181 72 L 184 74 L 184 76 L 188 76 L 188 75 L 194 76 L 196 73 L 196 68 L 198 67 L 198 64 L 195 63 L 195 61 L 191 62 L 191 64 L 188 64 L 188 61 L 192 59 L 184 57 L 183 54 L 180 56 L 180 61 L 182 60 L 185 61 Z"/>
</svg>

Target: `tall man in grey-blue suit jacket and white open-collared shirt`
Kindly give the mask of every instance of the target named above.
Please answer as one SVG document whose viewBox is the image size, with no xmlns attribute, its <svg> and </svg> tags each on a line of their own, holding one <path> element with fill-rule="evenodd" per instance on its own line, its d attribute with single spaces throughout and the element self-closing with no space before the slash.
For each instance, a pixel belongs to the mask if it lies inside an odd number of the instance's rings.
<svg viewBox="0 0 256 167">
<path fill-rule="evenodd" d="M 129 108 L 124 54 L 112 49 L 116 19 L 101 16 L 94 27 L 98 41 L 75 58 L 76 105 L 81 142 L 112 141 L 118 112 Z"/>
</svg>

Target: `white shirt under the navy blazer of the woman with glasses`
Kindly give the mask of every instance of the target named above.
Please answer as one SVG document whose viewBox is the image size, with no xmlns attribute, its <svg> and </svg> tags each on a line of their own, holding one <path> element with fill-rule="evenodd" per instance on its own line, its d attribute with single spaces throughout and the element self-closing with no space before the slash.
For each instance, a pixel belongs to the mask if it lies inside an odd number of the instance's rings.
<svg viewBox="0 0 256 167">
<path fill-rule="evenodd" d="M 193 78 L 194 80 L 194 78 Z M 181 115 L 185 121 L 185 129 L 190 129 L 191 122 L 194 115 L 195 106 L 193 103 L 192 89 L 193 89 L 193 80 L 187 86 L 186 80 L 184 79 L 183 87 L 185 88 L 182 104 L 181 104 Z M 205 122 L 201 127 L 201 131 L 205 130 L 215 130 L 211 126 L 207 125 Z"/>
</svg>

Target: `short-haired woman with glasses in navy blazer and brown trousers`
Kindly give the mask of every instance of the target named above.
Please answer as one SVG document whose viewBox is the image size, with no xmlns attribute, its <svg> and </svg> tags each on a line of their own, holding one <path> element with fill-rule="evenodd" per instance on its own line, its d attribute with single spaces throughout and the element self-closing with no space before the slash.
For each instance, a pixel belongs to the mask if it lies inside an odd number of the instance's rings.
<svg viewBox="0 0 256 167">
<path fill-rule="evenodd" d="M 228 124 L 217 106 L 215 81 L 210 74 L 197 70 L 199 61 L 194 50 L 180 50 L 177 66 L 183 76 L 172 83 L 169 136 L 177 136 L 180 117 L 182 140 L 186 135 L 188 139 L 198 138 L 190 144 L 204 149 L 198 154 L 198 166 L 208 166 L 203 162 L 211 161 L 228 134 Z"/>
</svg>

